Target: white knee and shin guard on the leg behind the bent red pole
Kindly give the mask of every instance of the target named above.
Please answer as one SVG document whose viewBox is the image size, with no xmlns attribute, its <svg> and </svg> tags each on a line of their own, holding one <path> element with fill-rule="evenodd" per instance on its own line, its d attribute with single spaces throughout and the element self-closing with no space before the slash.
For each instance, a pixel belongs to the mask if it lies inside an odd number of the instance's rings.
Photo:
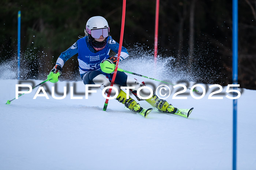
<svg viewBox="0 0 256 170">
<path fill-rule="evenodd" d="M 110 84 L 111 84 L 111 83 L 109 82 L 109 79 L 106 78 L 106 76 L 104 76 L 103 74 L 97 75 L 97 76 L 93 79 L 93 82 L 94 82 L 95 84 L 99 84 L 99 85 L 100 85 L 99 88 L 100 88 L 101 90 L 103 90 L 103 88 L 105 88 L 105 87 L 110 86 Z M 116 84 L 113 84 L 113 87 L 117 88 L 117 94 L 119 94 L 119 93 L 120 93 L 120 87 L 117 86 Z M 108 91 L 109 91 L 109 89 L 106 90 L 106 92 L 108 92 Z M 115 91 L 114 89 L 112 89 L 110 96 L 113 97 L 115 94 L 116 94 L 116 91 Z"/>
</svg>

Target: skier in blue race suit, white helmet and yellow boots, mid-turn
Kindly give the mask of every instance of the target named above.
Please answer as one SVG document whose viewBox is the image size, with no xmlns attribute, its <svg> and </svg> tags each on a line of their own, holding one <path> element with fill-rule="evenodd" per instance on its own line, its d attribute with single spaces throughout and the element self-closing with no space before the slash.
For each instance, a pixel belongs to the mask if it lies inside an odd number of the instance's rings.
<svg viewBox="0 0 256 170">
<path fill-rule="evenodd" d="M 116 64 L 117 55 L 109 56 L 110 50 L 118 53 L 119 44 L 112 39 L 109 34 L 109 25 L 105 18 L 101 16 L 91 17 L 86 23 L 86 29 L 84 30 L 86 36 L 79 39 L 68 50 L 61 53 L 57 59 L 56 66 L 50 71 L 48 79 L 50 82 L 56 83 L 58 78 L 61 77 L 61 70 L 64 63 L 75 54 L 78 54 L 79 72 L 84 84 L 100 84 L 100 88 L 110 86 L 110 81 L 113 77 L 113 72 L 108 74 L 103 72 L 100 65 Z M 127 49 L 122 47 L 120 54 L 120 61 L 126 59 L 129 56 Z M 108 63 L 105 63 L 108 62 Z M 102 63 L 102 64 L 101 64 Z M 114 87 L 118 89 L 118 96 L 116 100 L 123 103 L 127 108 L 132 111 L 136 111 L 146 117 L 152 110 L 143 109 L 139 103 L 133 100 L 130 96 L 127 98 L 126 93 L 120 89 L 120 86 L 132 86 L 132 93 L 136 96 L 136 92 L 139 87 L 145 86 L 138 80 L 127 76 L 124 72 L 117 71 L 116 79 L 114 81 Z M 107 92 L 107 91 L 106 91 Z M 114 96 L 115 91 L 112 90 L 110 96 Z M 137 99 L 138 96 L 136 96 Z M 151 106 L 158 108 L 162 112 L 176 112 L 177 108 L 174 108 L 171 104 L 165 100 L 159 99 L 155 93 L 150 99 L 146 100 Z"/>
</svg>

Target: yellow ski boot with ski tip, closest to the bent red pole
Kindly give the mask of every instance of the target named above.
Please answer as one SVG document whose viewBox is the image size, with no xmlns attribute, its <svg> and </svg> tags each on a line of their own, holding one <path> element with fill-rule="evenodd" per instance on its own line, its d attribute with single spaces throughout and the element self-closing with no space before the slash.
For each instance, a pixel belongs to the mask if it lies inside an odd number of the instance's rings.
<svg viewBox="0 0 256 170">
<path fill-rule="evenodd" d="M 144 116 L 145 118 L 147 115 L 153 110 L 153 108 L 144 109 L 140 106 L 139 103 L 137 103 L 135 100 L 133 100 L 130 96 L 127 98 L 126 93 L 123 90 L 120 90 L 120 93 L 118 94 L 116 100 L 118 102 L 123 103 L 125 107 L 129 108 L 132 111 L 138 112 L 140 115 Z"/>
</svg>

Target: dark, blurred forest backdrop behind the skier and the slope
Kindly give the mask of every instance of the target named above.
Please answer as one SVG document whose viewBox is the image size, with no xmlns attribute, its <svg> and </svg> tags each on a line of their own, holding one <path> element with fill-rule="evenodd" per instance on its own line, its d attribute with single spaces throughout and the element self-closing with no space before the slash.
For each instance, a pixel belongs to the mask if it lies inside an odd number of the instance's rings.
<svg viewBox="0 0 256 170">
<path fill-rule="evenodd" d="M 119 42 L 122 0 L 2 0 L 0 2 L 0 64 L 17 55 L 17 14 L 21 10 L 23 79 L 45 78 L 60 53 L 84 36 L 87 20 L 103 16 Z M 238 1 L 238 83 L 256 89 L 256 1 Z M 124 46 L 154 47 L 155 0 L 127 1 Z M 158 54 L 187 61 L 192 68 L 218 68 L 216 84 L 232 81 L 232 1 L 160 0 Z M 203 57 L 202 57 L 203 55 Z M 153 54 L 152 54 L 153 56 Z M 134 56 L 139 57 L 139 56 Z M 72 60 L 73 59 L 73 60 Z M 13 66 L 15 71 L 16 65 Z M 64 65 L 78 73 L 75 57 Z M 67 77 L 74 79 L 74 77 Z M 209 83 L 204 79 L 201 83 Z"/>
</svg>

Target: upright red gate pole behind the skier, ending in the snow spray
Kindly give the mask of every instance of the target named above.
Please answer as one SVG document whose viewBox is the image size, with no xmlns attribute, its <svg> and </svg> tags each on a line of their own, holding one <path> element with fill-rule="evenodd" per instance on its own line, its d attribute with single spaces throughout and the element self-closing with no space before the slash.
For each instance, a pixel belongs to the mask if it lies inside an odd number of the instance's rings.
<svg viewBox="0 0 256 170">
<path fill-rule="evenodd" d="M 156 0 L 156 6 L 155 6 L 155 41 L 154 41 L 154 63 L 155 63 L 155 67 L 157 65 L 158 18 L 159 18 L 159 0 Z"/>
</svg>

